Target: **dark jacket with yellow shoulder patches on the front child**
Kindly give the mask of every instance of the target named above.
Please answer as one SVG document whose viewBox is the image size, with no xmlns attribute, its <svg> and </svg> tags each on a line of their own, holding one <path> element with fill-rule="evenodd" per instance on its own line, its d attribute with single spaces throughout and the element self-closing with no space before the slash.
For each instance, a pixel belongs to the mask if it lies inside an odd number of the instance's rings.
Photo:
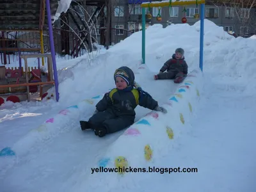
<svg viewBox="0 0 256 192">
<path fill-rule="evenodd" d="M 138 105 L 154 110 L 157 106 L 157 101 L 140 88 L 125 90 L 114 88 L 97 103 L 96 109 L 98 111 L 111 110 L 116 116 L 125 115 L 135 118 L 134 109 Z"/>
</svg>

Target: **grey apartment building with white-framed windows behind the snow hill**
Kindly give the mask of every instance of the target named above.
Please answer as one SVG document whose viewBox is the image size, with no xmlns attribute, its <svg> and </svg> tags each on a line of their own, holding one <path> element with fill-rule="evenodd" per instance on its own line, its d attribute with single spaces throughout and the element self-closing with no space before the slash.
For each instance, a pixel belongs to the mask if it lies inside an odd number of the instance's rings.
<svg viewBox="0 0 256 192">
<path fill-rule="evenodd" d="M 139 0 L 140 1 L 140 0 Z M 140 1 L 145 2 L 145 0 Z M 112 33 L 112 42 L 118 43 L 131 35 L 129 31 L 135 32 L 141 30 L 141 8 L 140 3 L 134 0 L 115 0 L 112 3 L 112 28 L 116 32 Z M 185 8 L 185 9 L 184 9 Z M 184 12 L 186 10 L 186 12 Z M 189 6 L 173 6 L 164 8 L 150 8 L 152 19 L 146 17 L 146 28 L 153 24 L 181 24 L 182 17 L 186 17 L 187 23 L 195 24 L 199 19 L 195 19 L 195 13 L 200 14 L 200 4 Z M 148 9 L 146 9 L 148 13 Z M 157 15 L 161 15 L 161 21 L 157 21 Z M 256 8 L 248 9 L 225 6 L 224 4 L 205 4 L 205 19 L 209 19 L 229 33 L 236 33 L 238 36 L 248 36 L 256 34 Z M 126 31 L 126 30 L 129 31 Z"/>
</svg>

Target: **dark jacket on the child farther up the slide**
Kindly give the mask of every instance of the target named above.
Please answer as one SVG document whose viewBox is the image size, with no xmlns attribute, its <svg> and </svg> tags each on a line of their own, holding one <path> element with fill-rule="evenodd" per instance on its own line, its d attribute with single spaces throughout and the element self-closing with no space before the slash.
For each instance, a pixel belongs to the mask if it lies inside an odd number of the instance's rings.
<svg viewBox="0 0 256 192">
<path fill-rule="evenodd" d="M 188 74 L 188 65 L 183 57 L 180 60 L 175 58 L 175 54 L 172 55 L 172 59 L 166 61 L 163 67 L 160 69 L 161 72 L 183 72 L 183 74 Z"/>
</svg>

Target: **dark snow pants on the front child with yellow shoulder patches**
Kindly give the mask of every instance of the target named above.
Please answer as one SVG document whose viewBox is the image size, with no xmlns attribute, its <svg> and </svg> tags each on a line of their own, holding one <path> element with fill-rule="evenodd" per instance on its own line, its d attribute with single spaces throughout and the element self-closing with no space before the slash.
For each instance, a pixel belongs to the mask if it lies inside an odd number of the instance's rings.
<svg viewBox="0 0 256 192">
<path fill-rule="evenodd" d="M 116 116 L 113 111 L 98 112 L 89 119 L 92 129 L 105 127 L 108 133 L 121 131 L 134 123 L 135 116 Z"/>
</svg>

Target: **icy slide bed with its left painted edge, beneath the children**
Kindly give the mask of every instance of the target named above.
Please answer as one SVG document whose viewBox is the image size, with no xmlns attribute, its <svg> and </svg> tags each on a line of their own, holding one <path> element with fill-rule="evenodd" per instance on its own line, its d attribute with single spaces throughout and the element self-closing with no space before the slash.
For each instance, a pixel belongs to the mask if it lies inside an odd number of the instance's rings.
<svg viewBox="0 0 256 192">
<path fill-rule="evenodd" d="M 154 72 L 147 65 L 139 66 L 134 73 L 136 81 L 159 101 L 159 105 L 163 105 L 162 101 L 168 100 L 179 86 L 172 81 L 154 81 Z M 156 92 L 156 87 L 162 91 Z M 82 132 L 79 127 L 79 120 L 87 120 L 92 115 L 95 104 L 105 92 L 108 90 L 102 90 L 101 94 L 91 99 L 84 99 L 64 108 L 45 120 L 44 124 L 32 129 L 12 147 L 4 148 L 2 156 L 12 153 L 15 156 L 1 157 L 3 164 L 0 168 L 0 185 L 9 184 L 5 188 L 13 191 L 18 188 L 19 191 L 34 191 L 35 186 L 40 186 L 42 191 L 67 191 L 76 182 L 77 175 L 90 175 L 93 164 L 100 161 L 108 146 L 124 132 L 116 132 L 102 139 L 96 137 L 92 131 Z M 136 108 L 136 121 L 149 112 L 149 109 Z M 29 170 L 35 172 L 31 173 Z M 46 177 L 48 185 L 45 185 Z M 10 185 L 13 178 L 16 180 L 15 186 Z M 66 184 L 60 187 L 60 183 L 65 179 Z M 26 184 L 28 182 L 29 185 Z"/>
</svg>

